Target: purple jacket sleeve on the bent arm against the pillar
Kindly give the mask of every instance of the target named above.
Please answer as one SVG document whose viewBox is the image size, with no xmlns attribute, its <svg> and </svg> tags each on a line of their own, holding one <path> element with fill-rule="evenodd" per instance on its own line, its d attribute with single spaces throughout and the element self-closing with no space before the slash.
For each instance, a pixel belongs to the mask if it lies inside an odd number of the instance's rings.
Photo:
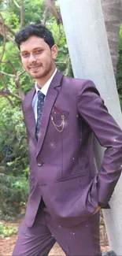
<svg viewBox="0 0 122 256">
<path fill-rule="evenodd" d="M 77 104 L 81 117 L 91 127 L 101 146 L 105 147 L 98 173 L 98 202 L 106 205 L 122 170 L 122 132 L 91 80 L 86 80 L 83 87 L 79 87 Z"/>
</svg>

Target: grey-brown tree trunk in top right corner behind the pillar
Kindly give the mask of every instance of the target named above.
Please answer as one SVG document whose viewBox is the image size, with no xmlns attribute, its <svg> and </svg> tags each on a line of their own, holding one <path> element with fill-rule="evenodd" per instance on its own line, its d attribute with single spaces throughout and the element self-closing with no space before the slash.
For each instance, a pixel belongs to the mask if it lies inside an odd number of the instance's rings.
<svg viewBox="0 0 122 256">
<path fill-rule="evenodd" d="M 121 21 L 121 0 L 101 0 L 101 2 L 105 20 L 105 28 L 109 41 L 109 50 L 113 61 L 114 74 L 116 75 L 119 49 L 118 35 Z"/>
</svg>

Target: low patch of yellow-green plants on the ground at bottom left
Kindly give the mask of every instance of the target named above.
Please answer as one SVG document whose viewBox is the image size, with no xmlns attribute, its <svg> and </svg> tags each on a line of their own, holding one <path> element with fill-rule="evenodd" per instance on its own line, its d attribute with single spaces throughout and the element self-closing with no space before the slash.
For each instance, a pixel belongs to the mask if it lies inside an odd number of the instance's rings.
<svg viewBox="0 0 122 256">
<path fill-rule="evenodd" d="M 16 227 L 7 226 L 0 222 L 0 237 L 12 236 L 13 234 L 17 234 Z"/>
</svg>

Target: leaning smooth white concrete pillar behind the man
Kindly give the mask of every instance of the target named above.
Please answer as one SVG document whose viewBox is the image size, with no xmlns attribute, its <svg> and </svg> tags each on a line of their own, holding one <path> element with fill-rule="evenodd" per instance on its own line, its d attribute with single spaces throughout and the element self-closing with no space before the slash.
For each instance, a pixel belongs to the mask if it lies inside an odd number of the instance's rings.
<svg viewBox="0 0 122 256">
<path fill-rule="evenodd" d="M 105 32 L 100 0 L 59 0 L 62 20 L 76 78 L 93 80 L 105 100 L 109 113 L 122 128 L 120 102 Z M 97 146 L 98 147 L 98 146 Z M 103 150 L 98 147 L 98 162 Z M 109 245 L 122 254 L 122 176 L 110 200 L 111 210 L 104 210 Z"/>
</svg>

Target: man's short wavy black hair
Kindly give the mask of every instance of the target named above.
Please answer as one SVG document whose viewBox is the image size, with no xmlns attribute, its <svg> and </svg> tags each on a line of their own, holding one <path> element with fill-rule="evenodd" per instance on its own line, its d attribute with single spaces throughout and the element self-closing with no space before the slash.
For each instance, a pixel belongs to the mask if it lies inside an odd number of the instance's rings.
<svg viewBox="0 0 122 256">
<path fill-rule="evenodd" d="M 38 36 L 50 46 L 54 46 L 54 37 L 50 30 L 48 30 L 43 24 L 29 24 L 22 28 L 20 32 L 15 35 L 15 42 L 20 50 L 20 43 L 29 39 L 30 36 Z"/>
</svg>

